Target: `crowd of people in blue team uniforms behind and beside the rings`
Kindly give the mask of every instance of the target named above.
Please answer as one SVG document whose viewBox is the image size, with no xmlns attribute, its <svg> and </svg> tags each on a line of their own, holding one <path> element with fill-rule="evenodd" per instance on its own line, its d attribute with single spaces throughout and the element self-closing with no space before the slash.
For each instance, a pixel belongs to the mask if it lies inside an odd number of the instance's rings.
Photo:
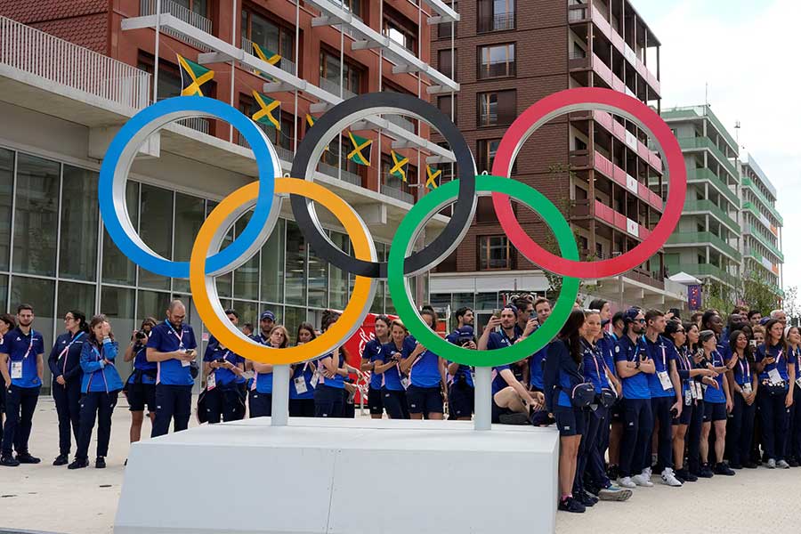
<svg viewBox="0 0 801 534">
<path fill-rule="evenodd" d="M 522 295 L 473 330 L 474 313 L 456 312 L 457 327 L 446 339 L 471 350 L 496 350 L 520 343 L 550 316 L 546 298 Z M 238 326 L 239 315 L 227 310 Z M 420 312 L 437 330 L 430 306 Z M 122 380 L 115 361 L 120 350 L 109 320 L 86 319 L 72 310 L 64 317 L 47 358 L 59 419 L 59 456 L 53 465 L 89 465 L 88 449 L 97 423 L 95 467 L 105 466 L 111 415 L 120 392 L 131 411 L 130 441 L 142 435 L 145 407 L 151 437 L 185 430 L 192 412 L 192 386 L 200 378 L 198 418 L 215 424 L 269 417 L 273 368 L 247 360 L 210 337 L 198 365 L 198 343 L 181 301 L 166 319 L 148 318 L 134 332 L 123 358 L 133 372 Z M 323 313 L 320 329 L 302 323 L 297 344 L 309 343 L 338 319 Z M 33 328 L 34 311 L 22 304 L 16 316 L 0 315 L 0 397 L 4 412 L 0 465 L 39 463 L 28 439 L 44 378 L 44 338 Z M 257 343 L 284 348 L 287 328 L 273 312 L 247 325 Z M 245 328 L 243 328 L 245 330 Z M 366 381 L 369 412 L 393 419 L 469 420 L 474 411 L 473 368 L 443 359 L 417 343 L 401 320 L 376 317 L 376 336 L 364 345 L 360 366 L 344 348 L 291 366 L 291 417 L 354 417 L 358 381 Z M 247 331 L 247 330 L 246 330 Z M 611 314 L 610 303 L 580 303 L 558 336 L 525 360 L 492 369 L 492 421 L 506 425 L 555 425 L 560 434 L 559 508 L 581 513 L 599 499 L 627 500 L 649 487 L 653 474 L 681 487 L 739 469 L 789 468 L 801 461 L 801 332 L 775 310 L 763 318 L 744 307 L 729 314 L 676 312 L 632 307 Z M 356 379 L 353 379 L 353 376 Z M 714 429 L 714 432 L 713 432 Z M 69 462 L 73 438 L 76 454 Z"/>
</svg>

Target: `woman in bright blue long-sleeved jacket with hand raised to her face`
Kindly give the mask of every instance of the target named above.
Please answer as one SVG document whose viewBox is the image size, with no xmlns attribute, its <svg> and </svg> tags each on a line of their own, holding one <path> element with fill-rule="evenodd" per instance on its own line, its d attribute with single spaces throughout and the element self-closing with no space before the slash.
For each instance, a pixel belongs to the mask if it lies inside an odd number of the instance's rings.
<svg viewBox="0 0 801 534">
<path fill-rule="evenodd" d="M 117 394 L 122 390 L 122 379 L 114 367 L 117 342 L 105 315 L 95 315 L 89 323 L 89 334 L 81 350 L 81 422 L 75 460 L 68 469 L 89 465 L 89 441 L 92 440 L 94 420 L 97 418 L 97 457 L 94 466 L 106 466 L 111 439 L 111 414 L 117 406 Z"/>
</svg>

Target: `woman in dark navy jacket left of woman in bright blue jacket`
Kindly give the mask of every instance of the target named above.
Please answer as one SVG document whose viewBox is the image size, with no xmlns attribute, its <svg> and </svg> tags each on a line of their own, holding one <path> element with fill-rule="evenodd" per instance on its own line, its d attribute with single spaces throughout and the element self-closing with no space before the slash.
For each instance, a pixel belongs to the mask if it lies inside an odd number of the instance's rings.
<svg viewBox="0 0 801 534">
<path fill-rule="evenodd" d="M 78 310 L 70 310 L 64 315 L 64 328 L 67 332 L 56 337 L 53 350 L 47 359 L 50 372 L 53 373 L 53 401 L 59 417 L 59 456 L 53 465 L 69 464 L 69 449 L 72 438 L 69 428 L 78 441 L 78 429 L 81 419 L 81 352 L 86 341 L 86 315 Z"/>
</svg>

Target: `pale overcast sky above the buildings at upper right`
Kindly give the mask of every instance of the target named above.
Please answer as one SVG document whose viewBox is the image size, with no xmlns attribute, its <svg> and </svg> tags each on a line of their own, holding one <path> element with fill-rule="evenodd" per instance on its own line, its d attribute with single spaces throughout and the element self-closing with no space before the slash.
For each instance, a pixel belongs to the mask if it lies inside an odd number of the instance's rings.
<svg viewBox="0 0 801 534">
<path fill-rule="evenodd" d="M 778 191 L 784 288 L 801 285 L 797 0 L 631 0 L 661 42 L 662 109 L 703 104 Z M 744 147 L 744 149 L 743 149 Z"/>
</svg>

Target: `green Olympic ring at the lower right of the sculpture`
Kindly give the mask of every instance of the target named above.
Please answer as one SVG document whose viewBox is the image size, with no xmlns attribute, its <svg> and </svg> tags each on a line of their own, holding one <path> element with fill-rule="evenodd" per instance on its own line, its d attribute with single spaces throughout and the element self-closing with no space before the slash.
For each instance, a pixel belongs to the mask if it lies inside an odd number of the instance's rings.
<svg viewBox="0 0 801 534">
<path fill-rule="evenodd" d="M 409 333 L 425 348 L 446 360 L 476 367 L 496 367 L 528 358 L 548 344 L 567 322 L 578 296 L 578 278 L 562 277 L 562 291 L 554 305 L 554 312 L 534 334 L 520 343 L 495 351 L 473 351 L 449 343 L 433 332 L 415 309 L 408 279 L 403 276 L 405 259 L 411 254 L 412 247 L 425 223 L 443 207 L 452 204 L 457 199 L 458 191 L 458 180 L 442 185 L 420 198 L 401 221 L 401 226 L 392 239 L 387 262 L 386 283 L 392 296 L 392 303 L 406 328 L 409 328 Z M 536 211 L 554 232 L 562 256 L 569 260 L 578 260 L 578 247 L 570 225 L 556 206 L 542 193 L 523 182 L 503 176 L 488 174 L 476 176 L 476 194 L 485 196 L 492 192 L 516 198 Z"/>
</svg>

